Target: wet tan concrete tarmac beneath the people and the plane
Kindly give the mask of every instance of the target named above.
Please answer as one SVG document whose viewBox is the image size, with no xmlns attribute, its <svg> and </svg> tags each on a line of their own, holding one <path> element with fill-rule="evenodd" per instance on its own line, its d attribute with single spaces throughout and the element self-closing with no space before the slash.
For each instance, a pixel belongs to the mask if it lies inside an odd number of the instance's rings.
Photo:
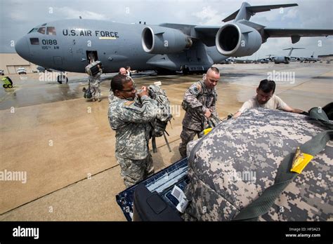
<svg viewBox="0 0 333 244">
<path fill-rule="evenodd" d="M 333 65 L 216 65 L 221 79 L 217 111 L 234 114 L 256 94 L 262 79 L 277 83 L 275 94 L 289 106 L 308 110 L 333 100 Z M 102 102 L 84 99 L 86 74 L 69 73 L 67 84 L 52 74 L 10 75 L 13 88 L 0 89 L 0 172 L 25 172 L 26 179 L 0 181 L 1 221 L 126 221 L 115 196 L 125 189 L 115 159 L 115 132 L 107 120 L 110 78 L 103 75 Z M 183 94 L 202 75 L 135 76 L 136 86 L 162 82 L 174 120 L 152 153 L 155 172 L 180 159 Z M 151 148 L 151 147 L 150 147 Z"/>
</svg>

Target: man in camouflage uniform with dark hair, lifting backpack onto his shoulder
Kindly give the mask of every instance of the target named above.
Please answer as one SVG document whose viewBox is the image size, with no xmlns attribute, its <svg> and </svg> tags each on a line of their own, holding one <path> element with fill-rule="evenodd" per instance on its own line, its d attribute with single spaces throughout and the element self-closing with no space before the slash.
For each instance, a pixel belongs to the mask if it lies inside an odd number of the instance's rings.
<svg viewBox="0 0 333 244">
<path fill-rule="evenodd" d="M 130 77 L 118 74 L 112 78 L 114 97 L 108 111 L 110 126 L 116 131 L 115 156 L 126 187 L 154 173 L 148 142 L 150 122 L 158 112 L 157 102 L 148 97 L 143 86 L 136 99 L 136 88 Z"/>
</svg>

